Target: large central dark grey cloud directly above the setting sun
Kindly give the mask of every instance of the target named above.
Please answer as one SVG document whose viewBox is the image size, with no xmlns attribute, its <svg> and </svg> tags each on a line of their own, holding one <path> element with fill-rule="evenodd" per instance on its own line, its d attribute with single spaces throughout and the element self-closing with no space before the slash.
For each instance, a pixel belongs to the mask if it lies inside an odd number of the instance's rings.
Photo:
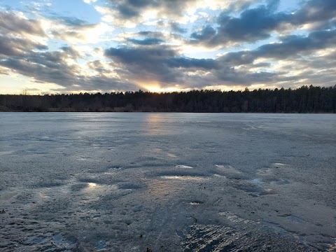
<svg viewBox="0 0 336 252">
<path fill-rule="evenodd" d="M 162 87 L 181 84 L 183 87 L 204 87 L 231 83 L 242 85 L 258 81 L 267 83 L 275 80 L 277 73 L 248 73 L 235 69 L 238 64 L 251 64 L 252 59 L 244 59 L 243 52 L 229 54 L 218 59 L 193 59 L 179 55 L 168 46 L 143 48 L 110 48 L 105 52 L 117 66 L 125 69 L 125 78 L 157 80 Z M 252 56 L 248 56 L 252 57 Z M 240 63 L 239 63 L 240 62 Z M 188 75 L 188 71 L 194 72 Z M 202 73 L 210 71 L 207 76 Z M 200 72 L 200 73 L 198 73 Z"/>
</svg>

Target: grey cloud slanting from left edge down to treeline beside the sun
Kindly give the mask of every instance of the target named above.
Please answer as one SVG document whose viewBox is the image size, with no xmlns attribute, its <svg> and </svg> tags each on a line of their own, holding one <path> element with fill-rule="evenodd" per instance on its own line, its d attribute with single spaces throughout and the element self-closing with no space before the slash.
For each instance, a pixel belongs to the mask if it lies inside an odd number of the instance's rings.
<svg viewBox="0 0 336 252">
<path fill-rule="evenodd" d="M 42 83 L 55 83 L 64 87 L 63 92 L 73 90 L 134 90 L 134 84 L 120 78 L 104 76 L 100 72 L 93 76 L 83 71 L 78 64 L 69 64 L 68 52 L 31 52 L 23 58 L 7 58 L 0 66 L 12 69 L 23 76 L 34 78 Z"/>
</svg>

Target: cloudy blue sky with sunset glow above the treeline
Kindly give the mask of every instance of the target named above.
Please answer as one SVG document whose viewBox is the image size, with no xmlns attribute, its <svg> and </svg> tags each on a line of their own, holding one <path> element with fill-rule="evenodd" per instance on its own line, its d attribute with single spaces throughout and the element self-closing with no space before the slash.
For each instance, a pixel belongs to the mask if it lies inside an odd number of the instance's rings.
<svg viewBox="0 0 336 252">
<path fill-rule="evenodd" d="M 0 94 L 335 84 L 335 0 L 0 0 Z"/>
</svg>

